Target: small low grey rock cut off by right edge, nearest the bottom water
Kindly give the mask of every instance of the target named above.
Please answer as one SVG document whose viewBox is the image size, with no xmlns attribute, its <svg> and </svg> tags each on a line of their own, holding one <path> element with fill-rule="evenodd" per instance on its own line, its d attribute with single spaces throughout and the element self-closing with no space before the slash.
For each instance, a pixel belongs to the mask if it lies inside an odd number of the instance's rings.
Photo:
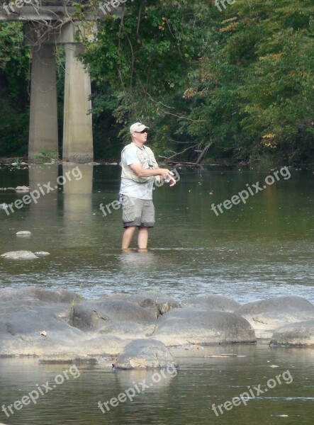
<svg viewBox="0 0 314 425">
<path fill-rule="evenodd" d="M 314 347 L 314 320 L 279 327 L 271 336 L 270 344 Z"/>
</svg>

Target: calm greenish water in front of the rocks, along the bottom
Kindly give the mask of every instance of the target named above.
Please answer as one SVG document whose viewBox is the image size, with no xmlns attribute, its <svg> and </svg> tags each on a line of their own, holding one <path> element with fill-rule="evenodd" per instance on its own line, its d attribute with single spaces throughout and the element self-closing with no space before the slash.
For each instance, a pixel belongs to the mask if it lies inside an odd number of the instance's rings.
<svg viewBox="0 0 314 425">
<path fill-rule="evenodd" d="M 241 357 L 200 358 L 221 352 Z M 198 356 L 198 357 L 196 357 Z M 277 367 L 274 367 L 277 366 Z M 258 421 L 260 425 L 310 424 L 313 421 L 314 353 L 309 349 L 271 349 L 268 346 L 232 346 L 205 348 L 189 359 L 179 360 L 179 373 L 127 399 L 116 407 L 109 404 L 105 414 L 98 402 L 117 397 L 142 380 L 152 382 L 152 373 L 135 371 L 113 372 L 100 365 L 78 365 L 80 377 L 67 380 L 38 399 L 37 404 L 24 406 L 7 421 L 11 425 L 66 424 L 174 424 L 191 423 L 242 425 Z M 1 400 L 8 405 L 69 365 L 40 365 L 35 359 L 1 359 Z M 215 416 L 212 404 L 225 403 L 248 387 L 261 385 L 289 370 L 293 382 L 269 389 L 269 392 L 249 399 Z M 134 384 L 135 382 L 135 384 Z M 142 386 L 140 385 L 141 389 Z M 256 394 L 256 392 L 255 392 Z M 6 417 L 1 412 L 0 418 Z M 6 422 L 6 421 L 5 421 Z"/>
</svg>

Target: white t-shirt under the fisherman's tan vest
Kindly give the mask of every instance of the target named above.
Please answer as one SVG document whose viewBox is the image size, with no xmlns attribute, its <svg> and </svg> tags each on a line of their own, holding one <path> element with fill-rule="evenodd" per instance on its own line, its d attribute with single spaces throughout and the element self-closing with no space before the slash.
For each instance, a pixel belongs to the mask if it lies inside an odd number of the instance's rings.
<svg viewBox="0 0 314 425">
<path fill-rule="evenodd" d="M 138 149 L 140 149 L 140 147 Z M 145 147 L 142 149 L 142 154 L 148 159 L 148 154 L 145 151 Z M 124 149 L 121 159 L 127 165 L 135 164 L 137 162 L 140 164 L 138 155 L 130 147 Z M 138 183 L 134 180 L 122 178 L 119 193 L 121 193 L 121 195 L 131 196 L 132 198 L 150 200 L 152 199 L 152 186 L 154 186 L 154 181 L 155 178 L 153 176 L 146 183 Z"/>
</svg>

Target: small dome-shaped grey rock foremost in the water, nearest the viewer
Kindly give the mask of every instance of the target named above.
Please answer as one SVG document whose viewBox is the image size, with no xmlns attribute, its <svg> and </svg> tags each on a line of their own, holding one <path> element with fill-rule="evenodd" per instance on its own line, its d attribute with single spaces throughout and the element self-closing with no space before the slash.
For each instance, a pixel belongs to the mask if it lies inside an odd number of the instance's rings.
<svg viewBox="0 0 314 425">
<path fill-rule="evenodd" d="M 169 349 L 155 339 L 137 339 L 125 346 L 114 367 L 116 369 L 162 369 L 176 367 Z"/>
</svg>

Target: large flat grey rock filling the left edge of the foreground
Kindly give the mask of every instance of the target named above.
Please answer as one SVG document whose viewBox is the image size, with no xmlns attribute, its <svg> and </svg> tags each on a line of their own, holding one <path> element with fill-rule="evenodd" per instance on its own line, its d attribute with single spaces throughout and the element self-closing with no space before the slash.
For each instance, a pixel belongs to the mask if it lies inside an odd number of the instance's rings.
<svg viewBox="0 0 314 425">
<path fill-rule="evenodd" d="M 67 290 L 0 289 L 0 355 L 90 358 L 117 355 L 131 339 L 82 331 L 69 324 L 82 297 Z"/>
</svg>

